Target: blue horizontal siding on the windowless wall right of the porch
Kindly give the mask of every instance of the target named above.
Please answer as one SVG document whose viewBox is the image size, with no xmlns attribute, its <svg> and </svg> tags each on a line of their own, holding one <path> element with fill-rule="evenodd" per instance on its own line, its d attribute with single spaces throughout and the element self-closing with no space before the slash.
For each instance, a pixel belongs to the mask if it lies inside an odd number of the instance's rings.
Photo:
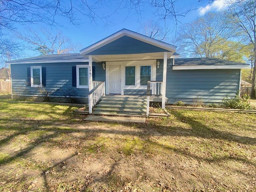
<svg viewBox="0 0 256 192">
<path fill-rule="evenodd" d="M 239 78 L 240 69 L 172 70 L 172 65 L 168 65 L 166 97 L 170 104 L 220 103 L 225 96 L 236 95 Z"/>
</svg>

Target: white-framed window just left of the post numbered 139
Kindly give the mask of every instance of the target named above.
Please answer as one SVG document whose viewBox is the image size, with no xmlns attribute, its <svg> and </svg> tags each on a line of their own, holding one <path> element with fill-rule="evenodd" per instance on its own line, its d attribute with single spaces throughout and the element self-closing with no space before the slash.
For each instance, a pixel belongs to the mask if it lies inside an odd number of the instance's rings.
<svg viewBox="0 0 256 192">
<path fill-rule="evenodd" d="M 76 66 L 76 87 L 88 88 L 88 66 Z"/>
</svg>

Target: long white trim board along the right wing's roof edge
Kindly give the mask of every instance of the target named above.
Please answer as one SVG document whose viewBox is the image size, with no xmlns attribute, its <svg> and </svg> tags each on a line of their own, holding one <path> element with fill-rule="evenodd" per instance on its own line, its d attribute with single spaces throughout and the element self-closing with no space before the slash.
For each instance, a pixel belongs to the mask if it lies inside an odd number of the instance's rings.
<svg viewBox="0 0 256 192">
<path fill-rule="evenodd" d="M 196 69 L 248 69 L 250 65 L 196 65 L 196 66 L 172 66 L 172 70 L 196 70 Z"/>
</svg>

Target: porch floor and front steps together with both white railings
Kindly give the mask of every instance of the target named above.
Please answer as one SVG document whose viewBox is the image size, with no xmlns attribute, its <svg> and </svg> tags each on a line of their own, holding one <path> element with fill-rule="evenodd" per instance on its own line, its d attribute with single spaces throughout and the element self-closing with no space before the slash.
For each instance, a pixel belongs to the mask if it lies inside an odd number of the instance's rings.
<svg viewBox="0 0 256 192">
<path fill-rule="evenodd" d="M 150 102 L 162 103 L 162 82 L 147 84 L 147 94 L 106 94 L 105 82 L 93 82 L 88 94 L 89 113 L 112 116 L 149 116 Z M 164 98 L 164 103 L 167 103 Z M 160 105 L 161 106 L 161 105 Z"/>
</svg>

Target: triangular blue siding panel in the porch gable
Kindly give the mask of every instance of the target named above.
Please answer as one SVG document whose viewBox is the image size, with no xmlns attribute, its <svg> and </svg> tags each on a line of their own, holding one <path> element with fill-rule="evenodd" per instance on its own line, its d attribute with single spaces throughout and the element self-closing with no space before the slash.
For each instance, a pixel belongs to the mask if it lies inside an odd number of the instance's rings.
<svg viewBox="0 0 256 192">
<path fill-rule="evenodd" d="M 138 53 L 154 53 L 154 52 L 170 52 L 157 46 L 136 40 L 134 38 L 123 36 L 113 42 L 98 48 L 88 55 L 118 55 L 118 54 L 138 54 Z"/>
</svg>

